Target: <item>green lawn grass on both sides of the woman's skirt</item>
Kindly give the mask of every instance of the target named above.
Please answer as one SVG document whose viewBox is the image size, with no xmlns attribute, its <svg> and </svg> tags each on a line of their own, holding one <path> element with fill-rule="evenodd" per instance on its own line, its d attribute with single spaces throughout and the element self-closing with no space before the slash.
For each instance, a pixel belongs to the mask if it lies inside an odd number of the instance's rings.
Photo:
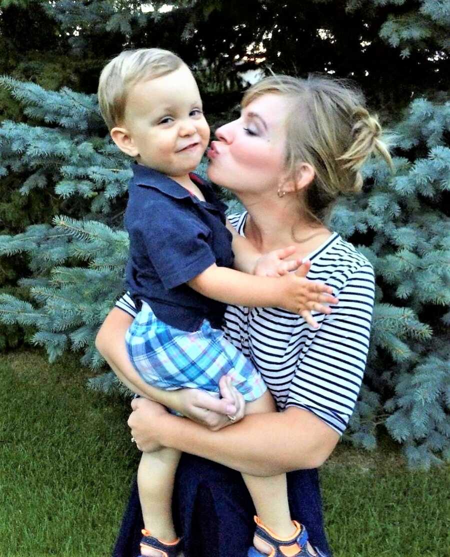
<svg viewBox="0 0 450 557">
<path fill-rule="evenodd" d="M 0 356 L 0 557 L 109 557 L 138 462 L 128 404 L 85 388 L 76 358 Z M 322 468 L 335 557 L 450 557 L 450 472 L 385 443 Z"/>
</svg>

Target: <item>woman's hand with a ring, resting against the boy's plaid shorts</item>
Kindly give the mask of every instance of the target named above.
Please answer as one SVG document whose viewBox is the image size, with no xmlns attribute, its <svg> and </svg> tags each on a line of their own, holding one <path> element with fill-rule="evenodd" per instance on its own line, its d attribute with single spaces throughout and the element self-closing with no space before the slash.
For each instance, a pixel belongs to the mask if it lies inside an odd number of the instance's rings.
<svg viewBox="0 0 450 557">
<path fill-rule="evenodd" d="M 219 388 L 220 399 L 200 389 L 179 390 L 177 410 L 211 431 L 218 431 L 238 422 L 244 416 L 244 398 L 226 375 L 219 381 Z"/>
</svg>

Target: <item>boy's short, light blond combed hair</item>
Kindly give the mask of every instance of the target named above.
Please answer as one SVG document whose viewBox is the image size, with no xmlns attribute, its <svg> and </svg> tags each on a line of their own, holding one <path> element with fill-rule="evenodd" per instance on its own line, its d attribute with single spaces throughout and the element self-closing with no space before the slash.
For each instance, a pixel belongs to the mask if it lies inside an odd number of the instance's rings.
<svg viewBox="0 0 450 557">
<path fill-rule="evenodd" d="M 108 129 L 123 121 L 126 98 L 138 81 L 154 79 L 178 70 L 183 60 L 161 48 L 125 50 L 106 64 L 99 79 L 99 105 Z"/>
</svg>

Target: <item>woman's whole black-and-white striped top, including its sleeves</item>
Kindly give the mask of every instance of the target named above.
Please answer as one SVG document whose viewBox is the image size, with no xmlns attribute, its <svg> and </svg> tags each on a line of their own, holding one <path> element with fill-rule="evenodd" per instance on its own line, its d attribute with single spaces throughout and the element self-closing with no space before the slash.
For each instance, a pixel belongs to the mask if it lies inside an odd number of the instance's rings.
<svg viewBox="0 0 450 557">
<path fill-rule="evenodd" d="M 228 218 L 243 235 L 247 213 Z M 339 297 L 331 315 L 313 312 L 319 329 L 287 310 L 228 306 L 224 331 L 253 361 L 279 409 L 307 409 L 342 434 L 358 397 L 369 349 L 374 272 L 337 233 L 308 258 L 307 277 L 325 282 Z M 116 305 L 135 315 L 129 296 Z"/>
</svg>

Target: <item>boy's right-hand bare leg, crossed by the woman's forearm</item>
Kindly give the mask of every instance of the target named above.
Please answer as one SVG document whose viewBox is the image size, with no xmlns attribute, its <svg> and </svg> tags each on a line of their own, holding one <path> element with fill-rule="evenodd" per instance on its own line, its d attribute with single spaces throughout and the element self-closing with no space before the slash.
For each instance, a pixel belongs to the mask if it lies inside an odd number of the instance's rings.
<svg viewBox="0 0 450 557">
<path fill-rule="evenodd" d="M 246 414 L 274 411 L 275 403 L 268 392 L 246 405 Z M 294 522 L 292 522 L 289 510 L 286 474 L 266 477 L 242 474 L 242 478 L 252 497 L 256 514 L 263 525 L 271 530 L 276 535 L 276 538 L 281 540 L 290 539 L 294 536 L 297 528 Z M 253 539 L 253 545 L 262 553 L 269 554 L 271 551 L 270 546 L 256 536 Z M 314 550 L 312 548 L 310 550 L 311 555 L 314 555 Z"/>
</svg>

